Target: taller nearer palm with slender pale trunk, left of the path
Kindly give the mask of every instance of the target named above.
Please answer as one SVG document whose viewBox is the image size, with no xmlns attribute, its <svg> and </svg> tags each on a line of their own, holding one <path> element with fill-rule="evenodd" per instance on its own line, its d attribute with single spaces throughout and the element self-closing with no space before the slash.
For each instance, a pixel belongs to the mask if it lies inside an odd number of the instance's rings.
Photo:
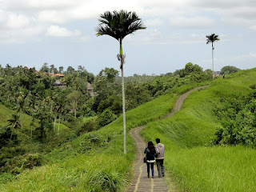
<svg viewBox="0 0 256 192">
<path fill-rule="evenodd" d="M 106 11 L 100 15 L 98 19 L 100 24 L 96 27 L 97 36 L 106 34 L 118 40 L 120 50 L 118 60 L 121 62 L 120 69 L 122 71 L 122 114 L 123 114 L 123 134 L 124 134 L 124 154 L 126 154 L 126 105 L 125 105 L 125 87 L 123 78 L 123 65 L 126 55 L 122 54 L 122 39 L 127 34 L 134 34 L 136 30 L 146 29 L 143 26 L 141 18 L 135 12 L 127 12 L 126 10 L 114 10 L 113 13 Z"/>
</svg>

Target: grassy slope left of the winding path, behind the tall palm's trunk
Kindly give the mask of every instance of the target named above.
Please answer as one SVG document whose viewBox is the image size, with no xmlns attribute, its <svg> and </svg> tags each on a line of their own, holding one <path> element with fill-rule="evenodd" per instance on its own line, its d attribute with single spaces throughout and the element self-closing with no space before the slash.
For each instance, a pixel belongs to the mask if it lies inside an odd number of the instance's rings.
<svg viewBox="0 0 256 192">
<path fill-rule="evenodd" d="M 182 86 L 175 92 L 182 94 L 194 86 L 198 85 Z M 176 98 L 178 95 L 174 97 L 172 93 L 166 94 L 127 111 L 127 132 L 166 116 Z M 42 183 L 44 190 L 124 190 L 131 178 L 135 149 L 130 135 L 127 135 L 127 154 L 123 154 L 122 139 L 121 116 L 101 130 L 83 134 L 54 150 L 46 157 L 47 162 L 50 162 L 48 165 L 23 172 L 18 175 L 17 181 L 3 185 L 0 190 L 38 190 Z"/>
</svg>

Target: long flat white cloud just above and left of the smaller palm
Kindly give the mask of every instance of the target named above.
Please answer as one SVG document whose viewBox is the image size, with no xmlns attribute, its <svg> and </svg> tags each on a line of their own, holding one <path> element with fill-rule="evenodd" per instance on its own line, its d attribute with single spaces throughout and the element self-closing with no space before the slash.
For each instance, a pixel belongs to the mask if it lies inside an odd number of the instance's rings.
<svg viewBox="0 0 256 192">
<path fill-rule="evenodd" d="M 178 27 L 178 28 L 193 28 L 193 29 L 205 29 L 216 26 L 216 22 L 212 18 L 206 17 L 177 17 L 170 18 L 170 26 Z"/>
</svg>

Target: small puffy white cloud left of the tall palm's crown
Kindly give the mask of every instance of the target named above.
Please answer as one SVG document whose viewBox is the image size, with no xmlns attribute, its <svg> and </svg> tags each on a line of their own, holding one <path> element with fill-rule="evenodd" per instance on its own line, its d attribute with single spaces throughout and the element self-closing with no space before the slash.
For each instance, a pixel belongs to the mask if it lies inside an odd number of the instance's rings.
<svg viewBox="0 0 256 192">
<path fill-rule="evenodd" d="M 46 36 L 53 36 L 53 37 L 71 37 L 71 36 L 78 36 L 80 34 L 81 32 L 79 30 L 71 31 L 60 26 L 50 26 L 46 32 Z"/>
</svg>

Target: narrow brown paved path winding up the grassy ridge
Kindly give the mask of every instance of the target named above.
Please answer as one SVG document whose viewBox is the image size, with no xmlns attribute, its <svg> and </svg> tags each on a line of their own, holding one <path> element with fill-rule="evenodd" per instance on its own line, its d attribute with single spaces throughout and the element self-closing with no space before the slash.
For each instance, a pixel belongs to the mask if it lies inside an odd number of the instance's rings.
<svg viewBox="0 0 256 192">
<path fill-rule="evenodd" d="M 194 90 L 200 90 L 206 88 L 206 86 L 198 86 L 194 88 L 193 90 L 190 90 L 186 92 L 186 94 L 182 94 L 181 97 L 177 99 L 177 101 L 174 104 L 174 110 L 167 115 L 167 118 L 170 118 L 174 115 L 175 112 L 178 110 L 181 110 L 182 104 L 185 101 L 186 97 L 193 92 Z M 138 128 L 135 128 L 134 130 L 131 130 L 130 135 L 132 136 L 134 140 L 134 144 L 136 146 L 136 160 L 134 162 L 134 178 L 130 184 L 130 187 L 127 192 L 134 191 L 134 192 L 146 192 L 146 191 L 159 191 L 159 192 L 166 192 L 166 191 L 176 191 L 174 188 L 174 185 L 172 183 L 168 183 L 169 188 L 166 184 L 165 178 L 158 178 L 158 169 L 156 166 L 154 166 L 154 178 L 147 178 L 146 173 L 146 163 L 143 163 L 143 158 L 145 156 L 144 150 L 146 147 L 146 142 L 143 140 L 142 136 L 139 134 L 139 132 L 144 128 L 145 126 L 140 126 Z"/>
</svg>

